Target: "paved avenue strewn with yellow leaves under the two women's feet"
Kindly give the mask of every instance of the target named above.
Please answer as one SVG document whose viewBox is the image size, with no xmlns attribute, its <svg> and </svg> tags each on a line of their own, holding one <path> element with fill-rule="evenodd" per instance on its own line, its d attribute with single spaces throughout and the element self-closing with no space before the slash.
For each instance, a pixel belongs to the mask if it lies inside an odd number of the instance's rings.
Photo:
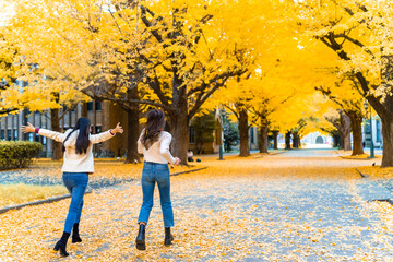
<svg viewBox="0 0 393 262">
<path fill-rule="evenodd" d="M 83 242 L 69 241 L 67 259 L 51 250 L 70 200 L 2 214 L 0 260 L 393 261 L 384 203 L 371 201 L 383 189 L 355 169 L 370 162 L 342 159 L 333 151 L 216 158 L 202 158 L 199 165 L 207 169 L 171 177 L 172 247 L 163 245 L 157 194 L 147 250 L 134 248 L 142 200 L 135 174 L 135 180 L 85 195 Z M 97 163 L 97 174 L 103 168 L 110 176 L 117 165 Z"/>
</svg>

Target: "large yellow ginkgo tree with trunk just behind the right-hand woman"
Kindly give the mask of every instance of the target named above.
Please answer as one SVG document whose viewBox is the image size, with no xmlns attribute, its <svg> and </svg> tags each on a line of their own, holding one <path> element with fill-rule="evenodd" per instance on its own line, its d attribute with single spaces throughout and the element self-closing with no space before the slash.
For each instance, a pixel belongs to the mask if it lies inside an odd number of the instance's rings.
<svg viewBox="0 0 393 262">
<path fill-rule="evenodd" d="M 249 71 L 270 39 L 259 24 L 281 10 L 275 1 L 17 2 L 15 33 L 48 74 L 102 99 L 163 108 L 183 162 L 190 119 Z"/>
</svg>

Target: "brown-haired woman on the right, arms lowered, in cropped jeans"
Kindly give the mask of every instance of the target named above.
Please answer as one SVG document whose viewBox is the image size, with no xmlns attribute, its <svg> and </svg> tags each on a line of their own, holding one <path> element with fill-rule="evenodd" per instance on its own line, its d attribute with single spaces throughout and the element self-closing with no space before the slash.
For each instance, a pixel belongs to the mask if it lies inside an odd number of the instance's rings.
<svg viewBox="0 0 393 262">
<path fill-rule="evenodd" d="M 170 227 L 174 226 L 174 211 L 170 201 L 170 177 L 168 163 L 180 164 L 178 157 L 169 152 L 171 135 L 164 131 L 165 115 L 160 110 L 151 110 L 146 115 L 147 123 L 138 140 L 138 152 L 143 154 L 142 171 L 143 203 L 139 215 L 139 233 L 136 249 L 145 250 L 145 229 L 153 207 L 155 183 L 158 186 L 159 200 L 163 210 L 165 240 L 164 245 L 171 245 L 174 240 Z"/>
</svg>

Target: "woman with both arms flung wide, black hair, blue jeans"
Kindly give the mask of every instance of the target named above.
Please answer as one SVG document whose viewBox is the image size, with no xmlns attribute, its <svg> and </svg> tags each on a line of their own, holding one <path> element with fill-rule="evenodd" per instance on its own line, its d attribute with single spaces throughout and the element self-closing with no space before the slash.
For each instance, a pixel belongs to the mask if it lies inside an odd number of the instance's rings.
<svg viewBox="0 0 393 262">
<path fill-rule="evenodd" d="M 93 144 L 111 139 L 116 133 L 122 133 L 120 123 L 115 129 L 110 129 L 99 134 L 90 134 L 91 122 L 87 118 L 80 118 L 73 129 L 64 133 L 50 131 L 47 129 L 34 128 L 31 123 L 22 126 L 22 132 L 35 132 L 62 143 L 64 162 L 61 168 L 63 182 L 71 193 L 71 204 L 66 218 L 64 231 L 61 239 L 56 243 L 55 251 L 60 250 L 62 257 L 69 255 L 67 252 L 67 241 L 72 230 L 72 242 L 82 242 L 79 235 L 79 223 L 83 207 L 83 195 L 88 182 L 88 174 L 94 172 Z"/>
</svg>

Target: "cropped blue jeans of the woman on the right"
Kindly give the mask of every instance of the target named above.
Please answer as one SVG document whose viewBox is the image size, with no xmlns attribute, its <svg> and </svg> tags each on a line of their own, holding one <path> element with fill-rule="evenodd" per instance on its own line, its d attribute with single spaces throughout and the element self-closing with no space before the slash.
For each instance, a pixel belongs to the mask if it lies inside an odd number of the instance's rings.
<svg viewBox="0 0 393 262">
<path fill-rule="evenodd" d="M 147 224 L 150 213 L 153 207 L 154 187 L 158 184 L 159 200 L 163 210 L 164 226 L 172 227 L 174 210 L 170 202 L 170 178 L 169 168 L 167 164 L 158 164 L 145 162 L 142 171 L 142 191 L 143 203 L 140 211 L 138 223 L 144 222 Z"/>
</svg>

